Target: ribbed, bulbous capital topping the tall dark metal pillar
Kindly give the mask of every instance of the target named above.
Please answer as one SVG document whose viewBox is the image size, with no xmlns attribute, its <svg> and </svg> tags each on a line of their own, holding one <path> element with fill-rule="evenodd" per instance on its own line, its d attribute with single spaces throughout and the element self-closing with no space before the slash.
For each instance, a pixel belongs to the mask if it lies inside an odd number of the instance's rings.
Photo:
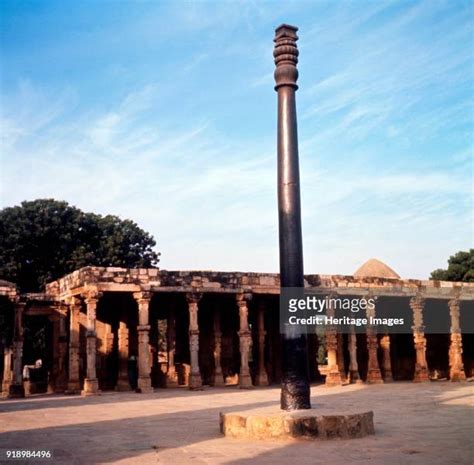
<svg viewBox="0 0 474 465">
<path fill-rule="evenodd" d="M 275 90 L 281 86 L 290 86 L 298 89 L 296 81 L 298 80 L 298 48 L 296 41 L 298 28 L 288 24 L 282 24 L 275 29 L 275 49 L 273 57 L 275 58 Z"/>
</svg>

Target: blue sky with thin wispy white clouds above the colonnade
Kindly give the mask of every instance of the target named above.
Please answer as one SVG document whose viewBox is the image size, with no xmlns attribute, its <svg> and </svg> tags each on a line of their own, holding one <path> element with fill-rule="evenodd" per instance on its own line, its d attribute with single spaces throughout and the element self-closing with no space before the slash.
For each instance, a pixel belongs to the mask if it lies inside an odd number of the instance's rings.
<svg viewBox="0 0 474 465">
<path fill-rule="evenodd" d="M 472 247 L 473 3 L 1 3 L 0 206 L 131 218 L 166 269 L 277 271 L 273 34 L 300 28 L 305 271 Z"/>
</svg>

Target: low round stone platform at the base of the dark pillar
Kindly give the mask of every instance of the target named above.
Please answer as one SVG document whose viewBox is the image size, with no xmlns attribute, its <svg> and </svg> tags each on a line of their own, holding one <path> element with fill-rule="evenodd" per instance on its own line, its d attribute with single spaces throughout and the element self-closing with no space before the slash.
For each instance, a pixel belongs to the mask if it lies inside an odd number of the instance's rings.
<svg viewBox="0 0 474 465">
<path fill-rule="evenodd" d="M 328 409 L 282 412 L 255 410 L 220 413 L 220 431 L 224 436 L 246 439 L 350 439 L 375 434 L 374 414 Z"/>
</svg>

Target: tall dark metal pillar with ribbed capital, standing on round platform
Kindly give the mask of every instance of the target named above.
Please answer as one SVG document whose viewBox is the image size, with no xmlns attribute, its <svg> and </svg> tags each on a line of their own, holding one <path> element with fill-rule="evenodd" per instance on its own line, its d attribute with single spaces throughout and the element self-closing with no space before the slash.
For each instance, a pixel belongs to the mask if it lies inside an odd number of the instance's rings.
<svg viewBox="0 0 474 465">
<path fill-rule="evenodd" d="M 295 91 L 298 89 L 298 28 L 275 30 L 275 90 L 278 92 L 278 220 L 281 287 L 304 287 L 300 176 Z M 310 386 L 306 335 L 287 326 L 282 334 L 283 410 L 309 409 Z"/>
</svg>

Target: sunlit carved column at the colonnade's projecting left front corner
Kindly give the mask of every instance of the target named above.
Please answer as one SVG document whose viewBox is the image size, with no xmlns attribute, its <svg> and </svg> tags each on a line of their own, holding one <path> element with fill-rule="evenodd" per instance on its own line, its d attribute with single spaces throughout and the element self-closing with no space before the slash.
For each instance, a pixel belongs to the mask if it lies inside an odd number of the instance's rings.
<svg viewBox="0 0 474 465">
<path fill-rule="evenodd" d="M 84 389 L 82 395 L 96 395 L 99 393 L 99 382 L 97 380 L 97 335 L 96 335 L 96 319 L 97 304 L 101 297 L 101 293 L 90 291 L 85 296 L 87 308 L 87 377 L 84 379 Z"/>
</svg>

